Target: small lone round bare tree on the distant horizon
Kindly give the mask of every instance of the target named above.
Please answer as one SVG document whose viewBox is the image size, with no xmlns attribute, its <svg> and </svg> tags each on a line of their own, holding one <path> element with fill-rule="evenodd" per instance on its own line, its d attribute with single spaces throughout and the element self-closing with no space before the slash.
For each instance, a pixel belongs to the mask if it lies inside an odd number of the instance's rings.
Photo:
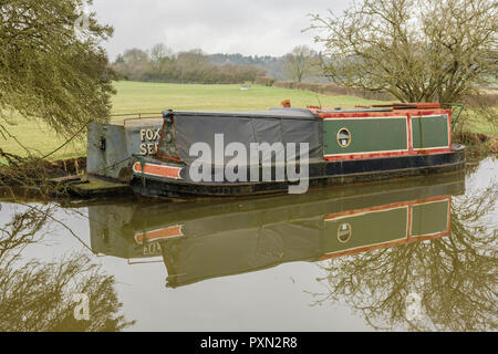
<svg viewBox="0 0 498 354">
<path fill-rule="evenodd" d="M 283 70 L 289 79 L 302 82 L 304 77 L 315 73 L 317 58 L 317 52 L 309 46 L 298 45 L 286 55 Z"/>
</svg>

